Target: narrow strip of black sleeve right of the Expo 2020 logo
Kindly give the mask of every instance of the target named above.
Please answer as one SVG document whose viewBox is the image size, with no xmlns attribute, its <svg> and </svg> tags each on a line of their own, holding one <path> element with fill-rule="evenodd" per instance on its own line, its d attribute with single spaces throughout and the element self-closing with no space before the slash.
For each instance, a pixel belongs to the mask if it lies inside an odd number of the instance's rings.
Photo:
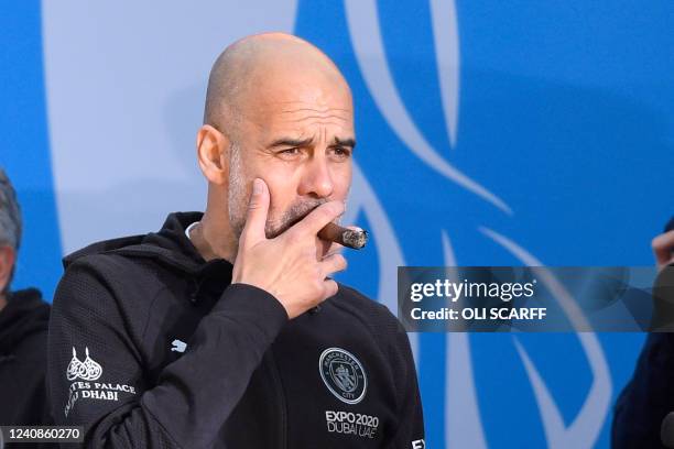
<svg viewBox="0 0 674 449">
<path fill-rule="evenodd" d="M 398 428 L 389 440 L 387 448 L 399 449 L 424 449 L 424 413 L 422 409 L 418 383 L 416 380 L 416 366 L 410 349 L 407 333 L 398 324 L 395 333 L 395 355 L 391 360 L 399 359 L 402 364 L 400 372 L 404 373 L 400 379 L 400 396 L 398 410 Z M 398 363 L 396 363 L 398 364 Z M 394 365 L 395 370 L 396 366 Z"/>
</svg>

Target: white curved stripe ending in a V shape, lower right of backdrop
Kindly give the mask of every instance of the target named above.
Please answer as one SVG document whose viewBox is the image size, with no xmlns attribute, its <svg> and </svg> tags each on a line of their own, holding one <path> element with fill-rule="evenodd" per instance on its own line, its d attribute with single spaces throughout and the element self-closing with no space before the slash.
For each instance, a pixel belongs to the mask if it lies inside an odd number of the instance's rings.
<svg viewBox="0 0 674 449">
<path fill-rule="evenodd" d="M 480 231 L 501 247 L 510 251 L 514 256 L 529 266 L 543 266 L 543 263 L 526 250 L 518 245 L 507 237 L 488 228 L 480 228 Z M 553 293 L 559 305 L 574 324 L 576 329 L 589 326 L 585 316 L 578 309 L 578 305 L 556 277 L 547 270 L 542 270 L 540 275 L 546 287 Z M 593 384 L 589 393 L 583 403 L 580 412 L 574 421 L 566 427 L 555 404 L 553 395 L 545 385 L 545 381 L 536 370 L 524 347 L 514 339 L 518 352 L 524 363 L 524 369 L 534 388 L 534 395 L 543 418 L 543 428 L 547 446 L 553 449 L 566 448 L 591 448 L 599 437 L 604 421 L 608 415 L 611 401 L 611 377 L 608 370 L 601 344 L 594 332 L 576 333 L 580 346 L 588 359 L 593 373 Z"/>
</svg>

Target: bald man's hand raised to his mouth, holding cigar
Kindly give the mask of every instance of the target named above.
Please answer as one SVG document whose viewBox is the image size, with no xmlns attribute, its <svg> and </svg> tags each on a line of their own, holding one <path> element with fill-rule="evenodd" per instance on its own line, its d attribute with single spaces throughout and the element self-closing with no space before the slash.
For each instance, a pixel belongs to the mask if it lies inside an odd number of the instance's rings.
<svg viewBox="0 0 674 449">
<path fill-rule="evenodd" d="M 269 202 L 267 184 L 254 179 L 232 283 L 254 285 L 269 292 L 292 319 L 337 293 L 337 283 L 326 277 L 345 270 L 346 259 L 339 253 L 319 258 L 316 234 L 344 212 L 344 204 L 325 202 L 287 231 L 267 239 L 264 226 Z"/>
</svg>

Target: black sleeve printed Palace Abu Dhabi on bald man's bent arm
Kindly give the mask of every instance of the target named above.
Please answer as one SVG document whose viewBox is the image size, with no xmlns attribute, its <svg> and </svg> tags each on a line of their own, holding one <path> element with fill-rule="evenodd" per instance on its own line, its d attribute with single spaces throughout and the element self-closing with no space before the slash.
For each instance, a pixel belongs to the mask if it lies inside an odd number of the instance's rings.
<svg viewBox="0 0 674 449">
<path fill-rule="evenodd" d="M 56 425 L 83 426 L 87 448 L 207 447 L 286 321 L 269 293 L 230 285 L 188 350 L 149 385 L 106 282 L 76 263 L 57 287 L 50 321 L 47 377 Z"/>
</svg>

